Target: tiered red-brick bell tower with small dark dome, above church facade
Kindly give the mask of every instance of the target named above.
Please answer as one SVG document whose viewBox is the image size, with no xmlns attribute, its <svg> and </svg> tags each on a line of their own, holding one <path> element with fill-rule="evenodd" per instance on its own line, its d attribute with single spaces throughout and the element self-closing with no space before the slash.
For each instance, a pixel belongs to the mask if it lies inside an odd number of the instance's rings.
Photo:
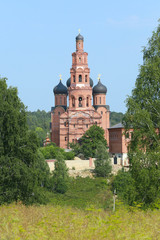
<svg viewBox="0 0 160 240">
<path fill-rule="evenodd" d="M 76 37 L 76 52 L 72 53 L 71 80 L 69 92 L 69 109 L 83 110 L 92 106 L 92 87 L 90 86 L 90 69 L 88 68 L 88 53 L 83 49 L 84 38 Z"/>
</svg>

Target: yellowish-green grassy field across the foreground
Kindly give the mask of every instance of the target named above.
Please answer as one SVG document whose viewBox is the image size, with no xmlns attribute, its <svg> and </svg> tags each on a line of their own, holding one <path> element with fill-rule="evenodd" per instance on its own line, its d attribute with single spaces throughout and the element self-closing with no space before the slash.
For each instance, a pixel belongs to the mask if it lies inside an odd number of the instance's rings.
<svg viewBox="0 0 160 240">
<path fill-rule="evenodd" d="M 34 239 L 160 239 L 160 211 L 114 214 L 92 207 L 80 210 L 62 206 L 11 204 L 0 207 L 1 240 Z"/>
</svg>

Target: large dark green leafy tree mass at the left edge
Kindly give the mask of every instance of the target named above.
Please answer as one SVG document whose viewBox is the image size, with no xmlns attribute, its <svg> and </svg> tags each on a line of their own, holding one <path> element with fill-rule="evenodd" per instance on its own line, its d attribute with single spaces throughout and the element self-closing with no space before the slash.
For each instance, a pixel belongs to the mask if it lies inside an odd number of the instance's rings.
<svg viewBox="0 0 160 240">
<path fill-rule="evenodd" d="M 5 78 L 0 79 L 0 102 L 0 204 L 44 202 L 38 139 L 27 130 L 25 107 Z"/>
</svg>

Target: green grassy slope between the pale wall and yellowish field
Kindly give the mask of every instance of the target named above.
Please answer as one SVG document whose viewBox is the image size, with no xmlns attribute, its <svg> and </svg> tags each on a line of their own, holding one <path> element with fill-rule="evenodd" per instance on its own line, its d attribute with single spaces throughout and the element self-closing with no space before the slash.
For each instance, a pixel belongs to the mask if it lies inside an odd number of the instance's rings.
<svg viewBox="0 0 160 240">
<path fill-rule="evenodd" d="M 107 209 L 112 204 L 112 193 L 108 188 L 106 179 L 77 177 L 70 179 L 69 189 L 65 194 L 51 193 L 49 199 L 54 205 L 72 206 L 80 209 L 89 206 Z"/>
</svg>

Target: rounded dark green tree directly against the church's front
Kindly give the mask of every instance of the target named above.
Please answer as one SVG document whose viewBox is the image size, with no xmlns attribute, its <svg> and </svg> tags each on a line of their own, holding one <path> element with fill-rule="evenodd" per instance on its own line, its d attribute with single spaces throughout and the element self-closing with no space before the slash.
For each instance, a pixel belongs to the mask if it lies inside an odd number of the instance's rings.
<svg viewBox="0 0 160 240">
<path fill-rule="evenodd" d="M 86 158 L 95 157 L 98 143 L 107 146 L 103 128 L 93 125 L 80 139 L 81 152 Z"/>
</svg>

